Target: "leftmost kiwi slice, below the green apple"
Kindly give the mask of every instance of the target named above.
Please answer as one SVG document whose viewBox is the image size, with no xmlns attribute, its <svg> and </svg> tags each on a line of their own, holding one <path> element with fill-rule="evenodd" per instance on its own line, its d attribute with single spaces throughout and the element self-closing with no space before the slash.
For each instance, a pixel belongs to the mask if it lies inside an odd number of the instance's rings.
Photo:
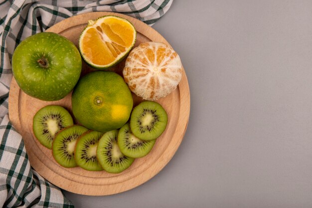
<svg viewBox="0 0 312 208">
<path fill-rule="evenodd" d="M 38 141 L 51 149 L 55 134 L 73 124 L 73 118 L 65 108 L 58 105 L 48 105 L 35 114 L 32 129 Z"/>
</svg>

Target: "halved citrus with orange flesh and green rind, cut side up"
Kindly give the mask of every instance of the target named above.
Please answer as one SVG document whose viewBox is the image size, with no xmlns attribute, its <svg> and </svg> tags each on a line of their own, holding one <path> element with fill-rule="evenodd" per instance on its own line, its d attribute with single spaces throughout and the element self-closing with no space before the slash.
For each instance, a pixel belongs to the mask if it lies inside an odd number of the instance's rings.
<svg viewBox="0 0 312 208">
<path fill-rule="evenodd" d="M 92 67 L 107 69 L 127 56 L 136 42 L 136 29 L 125 18 L 107 15 L 89 20 L 79 37 L 82 58 Z"/>
</svg>

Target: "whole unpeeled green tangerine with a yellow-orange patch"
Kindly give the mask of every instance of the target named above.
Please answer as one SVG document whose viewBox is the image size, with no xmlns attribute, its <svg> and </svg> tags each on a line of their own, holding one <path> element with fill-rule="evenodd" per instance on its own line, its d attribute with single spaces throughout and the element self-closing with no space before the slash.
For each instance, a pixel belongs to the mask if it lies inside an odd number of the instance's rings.
<svg viewBox="0 0 312 208">
<path fill-rule="evenodd" d="M 123 77 L 111 71 L 83 76 L 72 94 L 72 112 L 80 124 L 98 132 L 121 128 L 133 107 L 131 91 Z"/>
</svg>

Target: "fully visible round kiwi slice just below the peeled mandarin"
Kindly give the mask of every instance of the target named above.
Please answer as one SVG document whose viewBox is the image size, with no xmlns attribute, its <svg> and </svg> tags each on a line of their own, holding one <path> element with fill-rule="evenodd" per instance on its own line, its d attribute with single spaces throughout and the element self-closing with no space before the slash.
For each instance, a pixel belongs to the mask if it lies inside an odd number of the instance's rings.
<svg viewBox="0 0 312 208">
<path fill-rule="evenodd" d="M 139 139 L 153 140 L 162 134 L 167 122 L 167 113 L 159 103 L 144 101 L 133 109 L 130 128 Z"/>
</svg>

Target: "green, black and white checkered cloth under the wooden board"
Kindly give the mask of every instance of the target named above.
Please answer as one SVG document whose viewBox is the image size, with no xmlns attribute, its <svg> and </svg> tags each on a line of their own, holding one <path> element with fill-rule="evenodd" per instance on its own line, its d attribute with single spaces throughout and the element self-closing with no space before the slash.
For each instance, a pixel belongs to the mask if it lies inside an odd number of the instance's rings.
<svg viewBox="0 0 312 208">
<path fill-rule="evenodd" d="M 0 207 L 73 208 L 61 190 L 31 169 L 22 137 L 8 119 L 11 57 L 26 37 L 72 15 L 114 11 L 152 25 L 172 0 L 0 0 Z"/>
</svg>

